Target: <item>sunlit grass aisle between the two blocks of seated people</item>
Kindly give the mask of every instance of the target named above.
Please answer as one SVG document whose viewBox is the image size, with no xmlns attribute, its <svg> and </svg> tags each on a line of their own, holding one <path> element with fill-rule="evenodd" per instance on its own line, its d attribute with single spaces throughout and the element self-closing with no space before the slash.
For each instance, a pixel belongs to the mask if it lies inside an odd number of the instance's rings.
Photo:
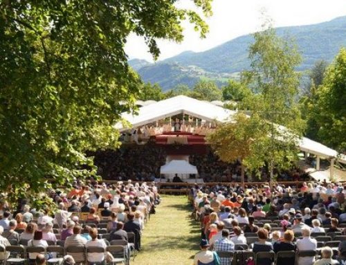
<svg viewBox="0 0 346 265">
<path fill-rule="evenodd" d="M 142 236 L 136 265 L 192 264 L 199 250 L 199 224 L 190 218 L 186 196 L 162 195 L 156 214 L 150 216 Z"/>
</svg>

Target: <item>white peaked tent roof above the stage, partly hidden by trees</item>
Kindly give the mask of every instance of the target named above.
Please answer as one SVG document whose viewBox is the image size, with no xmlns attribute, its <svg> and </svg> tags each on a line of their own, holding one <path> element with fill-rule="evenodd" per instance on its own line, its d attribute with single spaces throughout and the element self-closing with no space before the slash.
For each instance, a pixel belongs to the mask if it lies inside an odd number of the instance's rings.
<svg viewBox="0 0 346 265">
<path fill-rule="evenodd" d="M 177 95 L 174 98 L 154 102 L 152 100 L 149 105 L 140 107 L 138 113 L 122 113 L 122 119 L 127 120 L 131 127 L 140 127 L 147 125 L 156 120 L 163 120 L 164 118 L 171 117 L 180 113 L 185 113 L 190 116 L 200 118 L 202 120 L 218 122 L 227 122 L 232 120 L 232 116 L 236 111 L 224 109 L 223 107 L 216 106 L 211 102 L 196 100 L 189 98 L 185 95 Z M 116 125 L 120 131 L 129 129 L 124 127 L 121 122 Z M 318 143 L 309 138 L 303 137 L 299 144 L 300 150 L 321 156 L 322 158 L 337 158 L 341 163 L 346 163 L 346 155 L 338 156 L 338 152 L 321 143 Z M 338 157 L 337 157 L 338 156 Z"/>
</svg>

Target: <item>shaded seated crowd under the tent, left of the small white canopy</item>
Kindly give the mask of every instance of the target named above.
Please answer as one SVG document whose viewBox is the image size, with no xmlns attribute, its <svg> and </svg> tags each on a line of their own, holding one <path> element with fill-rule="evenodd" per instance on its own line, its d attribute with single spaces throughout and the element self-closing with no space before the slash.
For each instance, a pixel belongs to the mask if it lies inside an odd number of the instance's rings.
<svg viewBox="0 0 346 265">
<path fill-rule="evenodd" d="M 98 174 L 116 181 L 154 181 L 165 164 L 165 152 L 156 145 L 124 146 L 117 150 L 100 150 L 92 154 Z M 125 166 L 128 165 L 128 166 Z"/>
</svg>

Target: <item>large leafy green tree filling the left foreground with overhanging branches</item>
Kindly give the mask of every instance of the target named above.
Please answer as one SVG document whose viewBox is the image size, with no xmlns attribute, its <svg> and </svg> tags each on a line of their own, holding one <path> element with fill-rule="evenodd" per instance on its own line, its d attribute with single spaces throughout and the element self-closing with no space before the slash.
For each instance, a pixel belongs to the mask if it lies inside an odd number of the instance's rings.
<svg viewBox="0 0 346 265">
<path fill-rule="evenodd" d="M 211 15 L 210 0 L 194 4 Z M 156 59 L 156 39 L 181 42 L 185 19 L 208 32 L 175 1 L 0 1 L 0 192 L 15 201 L 95 175 L 86 150 L 118 147 L 113 125 L 139 92 L 128 35 Z"/>
</svg>

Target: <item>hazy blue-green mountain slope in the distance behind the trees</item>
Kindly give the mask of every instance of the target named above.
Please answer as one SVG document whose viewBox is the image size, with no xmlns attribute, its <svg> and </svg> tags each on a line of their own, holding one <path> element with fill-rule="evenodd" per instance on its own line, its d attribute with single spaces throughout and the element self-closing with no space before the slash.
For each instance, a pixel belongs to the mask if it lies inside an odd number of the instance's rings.
<svg viewBox="0 0 346 265">
<path fill-rule="evenodd" d="M 298 71 L 310 69 L 317 60 L 331 62 L 342 46 L 346 46 L 346 16 L 308 26 L 277 28 L 277 35 L 293 37 L 302 54 Z M 252 35 L 244 35 L 201 53 L 185 51 L 155 64 L 132 65 L 145 82 L 157 82 L 164 90 L 176 84 L 192 86 L 199 79 L 216 80 L 219 84 L 249 67 L 248 46 Z M 143 61 L 143 60 L 138 60 Z"/>
</svg>

